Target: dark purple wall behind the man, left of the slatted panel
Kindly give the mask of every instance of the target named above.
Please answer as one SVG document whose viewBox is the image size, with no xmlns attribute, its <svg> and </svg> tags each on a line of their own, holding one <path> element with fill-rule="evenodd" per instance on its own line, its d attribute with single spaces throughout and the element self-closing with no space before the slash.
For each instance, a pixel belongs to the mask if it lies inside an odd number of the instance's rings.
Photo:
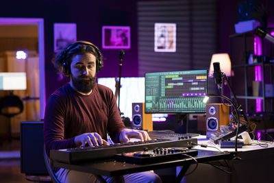
<svg viewBox="0 0 274 183">
<path fill-rule="evenodd" d="M 76 23 L 77 40 L 88 40 L 101 50 L 105 66 L 99 77 L 119 76 L 119 50 L 101 48 L 103 25 L 131 27 L 131 49 L 125 50 L 122 77 L 138 75 L 136 1 L 1 1 L 0 17 L 42 18 L 45 23 L 45 82 L 47 98 L 64 81 L 58 80 L 53 57 L 53 23 Z"/>
</svg>

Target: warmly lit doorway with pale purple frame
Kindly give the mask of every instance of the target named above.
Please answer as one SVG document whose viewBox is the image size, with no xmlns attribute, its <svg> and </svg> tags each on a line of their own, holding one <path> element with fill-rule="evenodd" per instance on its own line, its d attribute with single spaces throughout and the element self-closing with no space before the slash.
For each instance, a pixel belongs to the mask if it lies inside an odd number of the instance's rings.
<svg viewBox="0 0 274 183">
<path fill-rule="evenodd" d="M 12 35 L 12 32 L 17 32 L 21 34 L 23 29 L 29 29 L 29 32 L 36 30 L 33 34 L 34 41 L 36 45 L 30 45 L 30 47 L 35 47 L 34 50 L 28 51 L 28 57 L 26 59 L 18 60 L 16 58 L 16 50 L 8 51 L 8 53 L 3 53 L 5 62 L 8 62 L 9 66 L 6 66 L 6 70 L 9 72 L 25 71 L 30 80 L 27 79 L 27 92 L 23 92 L 22 99 L 25 106 L 25 114 L 21 119 L 17 121 L 12 121 L 12 131 L 20 132 L 19 125 L 21 121 L 27 120 L 40 120 L 44 119 L 45 111 L 45 44 L 44 44 L 44 20 L 43 19 L 25 19 L 25 18 L 0 18 L 0 27 L 5 27 L 11 29 L 8 32 Z M 14 29 L 13 29 L 14 28 Z M 2 39 L 2 41 L 5 39 Z M 11 42 L 8 42 L 9 44 Z M 25 44 L 22 41 L 22 44 Z M 8 44 L 7 44 L 8 46 Z M 22 46 L 22 45 L 21 45 Z M 7 64 L 7 65 L 8 65 Z M 9 67 L 9 68 L 8 68 Z M 33 68 L 34 71 L 32 71 Z M 2 68 L 3 70 L 3 68 Z M 3 71 L 1 71 L 3 72 Z M 19 92 L 20 95 L 20 92 Z M 21 97 L 21 96 L 20 96 Z M 38 101 L 38 102 L 37 102 Z M 34 108 L 32 110 L 29 110 Z M 28 110 L 28 111 L 27 111 Z M 33 113 L 33 114 L 32 114 Z"/>
</svg>

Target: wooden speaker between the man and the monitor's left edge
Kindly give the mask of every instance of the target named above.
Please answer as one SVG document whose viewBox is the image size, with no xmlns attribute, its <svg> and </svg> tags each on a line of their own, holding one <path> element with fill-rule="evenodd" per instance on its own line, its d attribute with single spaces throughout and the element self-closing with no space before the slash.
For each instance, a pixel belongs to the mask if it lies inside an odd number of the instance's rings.
<svg viewBox="0 0 274 183">
<path fill-rule="evenodd" d="M 152 114 L 145 114 L 145 103 L 132 103 L 132 127 L 153 131 Z"/>
</svg>

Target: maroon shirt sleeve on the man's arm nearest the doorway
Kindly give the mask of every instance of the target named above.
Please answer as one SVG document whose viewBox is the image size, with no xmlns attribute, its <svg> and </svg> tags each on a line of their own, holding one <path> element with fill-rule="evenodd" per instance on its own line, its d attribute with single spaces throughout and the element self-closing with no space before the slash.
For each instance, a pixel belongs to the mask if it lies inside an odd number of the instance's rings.
<svg viewBox="0 0 274 183">
<path fill-rule="evenodd" d="M 75 147 L 74 138 L 64 139 L 64 117 L 66 104 L 58 95 L 51 95 L 47 102 L 44 119 L 44 143 L 49 154 L 50 149 Z"/>
</svg>

